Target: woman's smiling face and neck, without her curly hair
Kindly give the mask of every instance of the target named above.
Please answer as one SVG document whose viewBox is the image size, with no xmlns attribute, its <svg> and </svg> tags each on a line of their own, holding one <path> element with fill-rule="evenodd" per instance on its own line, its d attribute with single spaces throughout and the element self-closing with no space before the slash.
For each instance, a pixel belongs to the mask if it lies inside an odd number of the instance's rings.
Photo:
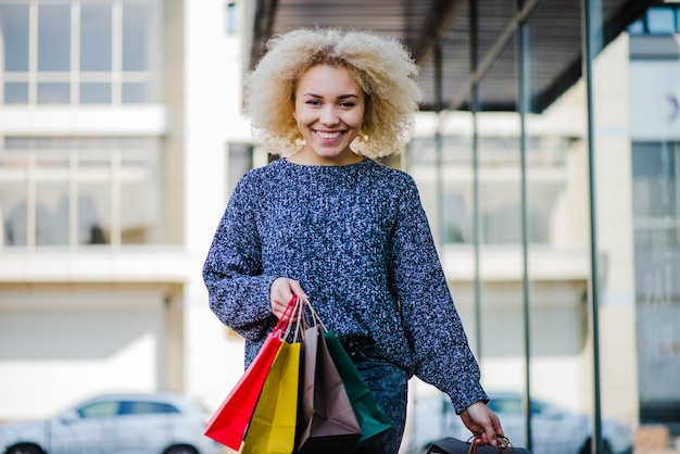
<svg viewBox="0 0 680 454">
<path fill-rule="evenodd" d="M 307 165 L 348 165 L 362 160 L 350 149 L 364 121 L 366 100 L 351 73 L 326 64 L 298 80 L 295 122 L 304 148 L 289 161 Z"/>
</svg>

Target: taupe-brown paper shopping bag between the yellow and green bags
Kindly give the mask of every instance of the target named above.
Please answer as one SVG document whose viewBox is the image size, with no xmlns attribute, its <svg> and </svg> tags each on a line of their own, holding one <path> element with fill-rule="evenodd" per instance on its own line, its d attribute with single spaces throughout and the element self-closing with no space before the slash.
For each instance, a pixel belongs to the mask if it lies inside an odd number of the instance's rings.
<svg viewBox="0 0 680 454">
<path fill-rule="evenodd" d="M 302 351 L 301 414 L 295 452 L 345 454 L 356 444 L 362 431 L 318 325 L 304 331 Z"/>
</svg>

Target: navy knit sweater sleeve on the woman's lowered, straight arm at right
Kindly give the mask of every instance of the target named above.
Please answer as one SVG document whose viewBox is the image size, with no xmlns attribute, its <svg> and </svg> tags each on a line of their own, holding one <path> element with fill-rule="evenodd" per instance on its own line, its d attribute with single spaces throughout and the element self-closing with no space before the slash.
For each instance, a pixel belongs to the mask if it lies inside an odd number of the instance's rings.
<svg viewBox="0 0 680 454">
<path fill-rule="evenodd" d="M 392 287 L 415 354 L 416 376 L 449 394 L 457 413 L 488 401 L 411 178 L 401 191 L 391 250 Z"/>
</svg>

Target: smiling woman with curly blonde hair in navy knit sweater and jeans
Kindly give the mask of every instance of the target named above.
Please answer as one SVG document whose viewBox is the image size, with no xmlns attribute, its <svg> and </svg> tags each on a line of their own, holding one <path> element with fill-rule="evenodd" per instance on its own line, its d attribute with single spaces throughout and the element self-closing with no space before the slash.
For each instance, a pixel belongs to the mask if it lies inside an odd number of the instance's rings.
<svg viewBox="0 0 680 454">
<path fill-rule="evenodd" d="M 302 29 L 278 36 L 250 74 L 254 133 L 282 159 L 237 185 L 203 270 L 211 308 L 252 361 L 293 294 L 312 302 L 394 428 L 366 453 L 399 451 L 407 380 L 448 393 L 484 443 L 503 430 L 486 405 L 413 179 L 399 153 L 420 92 L 393 39 Z"/>
</svg>

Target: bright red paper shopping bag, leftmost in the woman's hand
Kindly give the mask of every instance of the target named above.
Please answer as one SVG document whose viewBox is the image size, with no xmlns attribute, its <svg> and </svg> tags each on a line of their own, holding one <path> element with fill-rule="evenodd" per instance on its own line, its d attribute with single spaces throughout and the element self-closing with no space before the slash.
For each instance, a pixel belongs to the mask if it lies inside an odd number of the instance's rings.
<svg viewBox="0 0 680 454">
<path fill-rule="evenodd" d="M 253 362 L 207 423 L 206 437 L 235 451 L 240 449 L 245 428 L 253 416 L 262 387 L 286 337 L 286 330 L 297 304 L 298 298 L 293 295 L 284 317 L 267 336 Z"/>
</svg>

